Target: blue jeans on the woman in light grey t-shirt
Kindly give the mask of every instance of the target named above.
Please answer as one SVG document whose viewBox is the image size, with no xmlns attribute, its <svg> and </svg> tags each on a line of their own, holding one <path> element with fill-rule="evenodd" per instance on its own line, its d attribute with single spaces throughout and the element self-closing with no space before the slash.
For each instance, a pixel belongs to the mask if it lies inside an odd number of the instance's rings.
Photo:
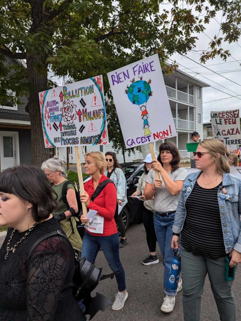
<svg viewBox="0 0 241 321">
<path fill-rule="evenodd" d="M 160 247 L 160 251 L 163 257 L 164 265 L 164 277 L 163 277 L 163 288 L 164 293 L 168 295 L 176 295 L 177 290 L 173 291 L 169 289 L 166 285 L 167 277 L 171 268 L 171 261 L 174 256 L 173 249 L 171 248 L 171 241 L 173 237 L 173 223 L 175 218 L 175 213 L 168 216 L 160 216 L 154 212 L 154 226 L 157 236 L 157 242 Z"/>
</svg>

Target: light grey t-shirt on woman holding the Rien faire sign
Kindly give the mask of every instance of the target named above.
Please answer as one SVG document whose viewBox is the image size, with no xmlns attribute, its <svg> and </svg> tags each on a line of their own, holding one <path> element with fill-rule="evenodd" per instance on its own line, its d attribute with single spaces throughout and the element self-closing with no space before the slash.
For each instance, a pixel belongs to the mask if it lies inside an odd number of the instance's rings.
<svg viewBox="0 0 241 321">
<path fill-rule="evenodd" d="M 171 179 L 175 182 L 177 180 L 185 180 L 188 172 L 185 168 L 179 167 L 173 173 L 167 173 Z M 165 187 L 161 174 L 159 173 L 159 177 L 162 180 L 162 187 L 157 188 L 157 191 L 154 195 L 154 211 L 155 212 L 171 212 L 176 211 L 177 203 L 180 198 L 180 193 L 177 195 L 171 195 Z M 145 178 L 146 182 L 149 184 L 153 184 L 154 180 L 156 179 L 154 169 L 150 169 L 147 177 Z"/>
</svg>

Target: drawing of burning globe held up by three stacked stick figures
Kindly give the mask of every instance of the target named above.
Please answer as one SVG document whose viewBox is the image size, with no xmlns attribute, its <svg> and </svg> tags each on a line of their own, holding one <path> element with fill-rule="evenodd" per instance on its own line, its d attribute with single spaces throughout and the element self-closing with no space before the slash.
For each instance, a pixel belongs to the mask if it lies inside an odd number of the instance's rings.
<svg viewBox="0 0 241 321">
<path fill-rule="evenodd" d="M 150 79 L 148 82 L 146 82 L 145 80 L 142 80 L 142 77 L 140 77 L 140 80 L 137 81 L 135 81 L 133 78 L 131 85 L 127 86 L 125 89 L 125 93 L 132 104 L 139 105 L 140 107 L 141 119 L 143 120 L 143 129 L 145 129 L 144 136 L 151 134 L 148 121 L 149 116 L 147 116 L 147 101 L 149 100 L 150 96 L 152 96 L 150 83 Z"/>
</svg>

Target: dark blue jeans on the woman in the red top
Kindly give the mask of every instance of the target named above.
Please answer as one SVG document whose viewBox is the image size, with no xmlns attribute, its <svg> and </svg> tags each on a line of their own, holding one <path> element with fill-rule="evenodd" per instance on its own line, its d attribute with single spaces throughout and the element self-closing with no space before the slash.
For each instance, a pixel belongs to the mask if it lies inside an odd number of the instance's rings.
<svg viewBox="0 0 241 321">
<path fill-rule="evenodd" d="M 119 257 L 119 235 L 118 233 L 110 236 L 93 236 L 85 231 L 81 258 L 86 256 L 86 260 L 94 264 L 96 256 L 101 247 L 104 256 L 108 262 L 110 269 L 114 272 L 118 270 L 116 274 L 116 281 L 118 284 L 118 291 L 124 291 L 125 286 L 125 271 L 121 265 Z"/>
</svg>

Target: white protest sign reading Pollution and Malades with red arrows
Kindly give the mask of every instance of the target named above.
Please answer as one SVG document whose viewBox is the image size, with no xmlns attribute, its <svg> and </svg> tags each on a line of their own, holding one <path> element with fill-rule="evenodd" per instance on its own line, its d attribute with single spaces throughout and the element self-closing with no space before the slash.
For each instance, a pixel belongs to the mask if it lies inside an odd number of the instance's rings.
<svg viewBox="0 0 241 321">
<path fill-rule="evenodd" d="M 42 91 L 39 103 L 46 148 L 109 143 L 101 75 Z"/>
</svg>

